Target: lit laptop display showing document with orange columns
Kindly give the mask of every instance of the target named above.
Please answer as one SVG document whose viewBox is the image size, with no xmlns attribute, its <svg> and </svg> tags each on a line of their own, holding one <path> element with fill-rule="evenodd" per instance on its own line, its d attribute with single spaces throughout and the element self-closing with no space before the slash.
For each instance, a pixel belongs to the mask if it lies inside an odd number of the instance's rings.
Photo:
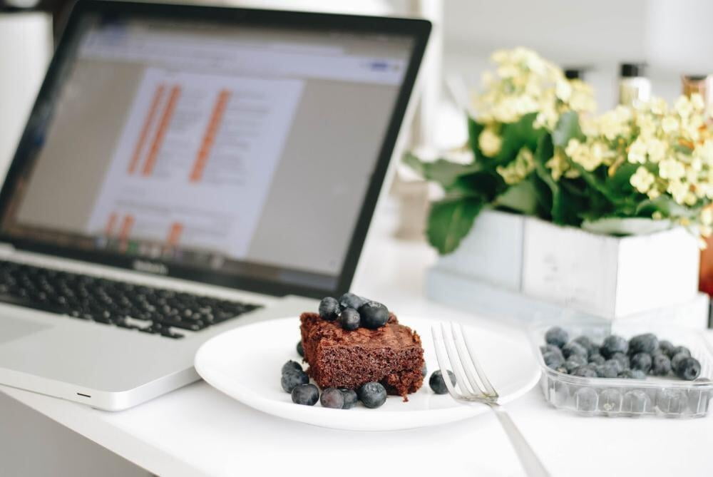
<svg viewBox="0 0 713 477">
<path fill-rule="evenodd" d="M 4 234 L 337 286 L 414 39 L 84 16 Z"/>
</svg>

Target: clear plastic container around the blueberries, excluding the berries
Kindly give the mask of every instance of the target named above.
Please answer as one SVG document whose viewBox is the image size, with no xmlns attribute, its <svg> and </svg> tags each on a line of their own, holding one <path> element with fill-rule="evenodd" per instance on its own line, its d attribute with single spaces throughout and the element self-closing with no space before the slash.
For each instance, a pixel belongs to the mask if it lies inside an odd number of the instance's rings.
<svg viewBox="0 0 713 477">
<path fill-rule="evenodd" d="M 694 381 L 675 376 L 646 376 L 646 379 L 590 378 L 571 376 L 550 369 L 542 357 L 545 332 L 552 323 L 530 329 L 533 351 L 542 368 L 540 387 L 545 399 L 558 409 L 568 409 L 588 416 L 663 416 L 672 418 L 702 417 L 713 399 L 713 347 L 702 334 L 676 327 L 642 327 L 640 325 L 570 322 L 560 324 L 570 339 L 584 335 L 601 343 L 610 334 L 626 339 L 642 333 L 654 333 L 674 346 L 687 347 L 701 364 Z"/>
</svg>

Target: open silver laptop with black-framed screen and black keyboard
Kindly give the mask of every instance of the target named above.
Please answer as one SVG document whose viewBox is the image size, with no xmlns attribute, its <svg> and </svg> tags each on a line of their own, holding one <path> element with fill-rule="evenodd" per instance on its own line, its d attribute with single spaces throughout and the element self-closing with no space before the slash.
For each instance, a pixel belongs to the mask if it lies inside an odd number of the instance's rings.
<svg viewBox="0 0 713 477">
<path fill-rule="evenodd" d="M 79 1 L 0 193 L 0 384 L 126 409 L 347 291 L 429 31 Z"/>
</svg>

